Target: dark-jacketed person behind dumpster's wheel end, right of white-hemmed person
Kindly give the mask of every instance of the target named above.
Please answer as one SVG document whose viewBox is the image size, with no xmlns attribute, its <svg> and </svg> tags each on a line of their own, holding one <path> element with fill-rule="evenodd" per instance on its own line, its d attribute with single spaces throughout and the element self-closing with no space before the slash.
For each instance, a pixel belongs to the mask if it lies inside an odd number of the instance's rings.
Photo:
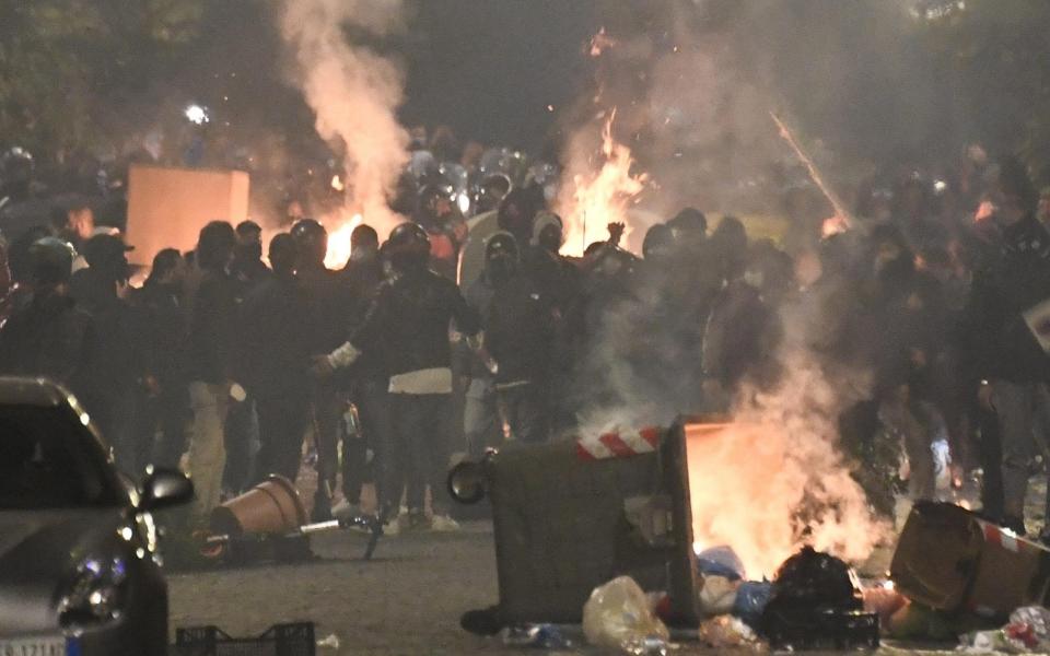
<svg viewBox="0 0 1050 656">
<path fill-rule="evenodd" d="M 493 235 L 486 246 L 486 276 L 492 298 L 483 325 L 488 351 L 497 363 L 495 391 L 511 435 L 525 443 L 549 434 L 547 383 L 555 338 L 553 307 L 520 271 L 518 250 L 510 233 Z"/>
</svg>

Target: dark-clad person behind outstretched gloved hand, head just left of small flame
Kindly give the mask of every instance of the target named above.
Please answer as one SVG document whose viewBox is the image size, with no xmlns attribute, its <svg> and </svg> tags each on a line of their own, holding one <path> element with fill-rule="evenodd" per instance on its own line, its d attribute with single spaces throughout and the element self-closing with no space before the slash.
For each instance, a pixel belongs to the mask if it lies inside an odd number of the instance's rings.
<svg viewBox="0 0 1050 656">
<path fill-rule="evenodd" d="M 328 233 L 313 219 L 292 226 L 298 254 L 298 274 L 306 294 L 306 345 L 312 356 L 323 355 L 346 340 L 349 292 L 338 271 L 325 267 Z M 331 495 L 339 471 L 339 421 L 346 400 L 335 380 L 315 380 L 310 413 L 314 445 L 317 448 L 317 492 L 313 518 L 331 518 Z"/>
</svg>

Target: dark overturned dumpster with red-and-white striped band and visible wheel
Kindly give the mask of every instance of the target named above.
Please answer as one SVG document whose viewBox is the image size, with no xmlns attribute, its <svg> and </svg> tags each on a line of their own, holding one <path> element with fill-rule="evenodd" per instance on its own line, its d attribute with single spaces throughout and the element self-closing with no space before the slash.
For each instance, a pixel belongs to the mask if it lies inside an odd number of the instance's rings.
<svg viewBox="0 0 1050 656">
<path fill-rule="evenodd" d="M 673 624 L 698 623 L 681 422 L 506 448 L 474 467 L 450 487 L 491 500 L 502 621 L 579 623 L 594 588 L 628 575 L 667 593 Z"/>
</svg>

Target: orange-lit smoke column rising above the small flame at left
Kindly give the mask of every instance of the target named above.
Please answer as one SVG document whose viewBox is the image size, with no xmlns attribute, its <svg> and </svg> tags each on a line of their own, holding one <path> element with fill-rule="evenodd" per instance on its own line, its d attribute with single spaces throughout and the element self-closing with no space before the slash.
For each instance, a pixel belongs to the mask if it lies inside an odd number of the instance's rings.
<svg viewBox="0 0 1050 656">
<path fill-rule="evenodd" d="M 316 114 L 317 133 L 345 155 L 347 206 L 381 232 L 400 219 L 387 199 L 408 160 L 398 124 L 404 73 L 366 45 L 405 27 L 401 0 L 282 0 L 281 35 L 294 55 L 295 85 Z M 332 226 L 329 226 L 332 227 Z M 336 226 L 338 227 L 338 226 Z"/>
</svg>

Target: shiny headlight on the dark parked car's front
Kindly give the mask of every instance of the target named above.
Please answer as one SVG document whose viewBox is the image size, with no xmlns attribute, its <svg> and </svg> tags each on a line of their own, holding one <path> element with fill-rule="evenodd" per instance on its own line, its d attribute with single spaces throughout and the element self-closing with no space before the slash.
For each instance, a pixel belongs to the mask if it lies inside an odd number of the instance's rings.
<svg viewBox="0 0 1050 656">
<path fill-rule="evenodd" d="M 127 565 L 122 559 L 85 559 L 58 602 L 63 628 L 102 624 L 120 617 Z"/>
</svg>

